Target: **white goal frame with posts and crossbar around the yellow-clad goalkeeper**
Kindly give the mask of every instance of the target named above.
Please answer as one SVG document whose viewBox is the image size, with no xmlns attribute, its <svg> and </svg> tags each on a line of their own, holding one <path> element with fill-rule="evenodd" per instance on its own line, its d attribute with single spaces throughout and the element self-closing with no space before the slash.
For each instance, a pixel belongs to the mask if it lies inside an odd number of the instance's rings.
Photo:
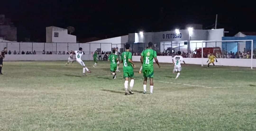
<svg viewBox="0 0 256 131">
<path fill-rule="evenodd" d="M 252 69 L 252 59 L 253 59 L 253 56 L 252 56 L 252 54 L 253 54 L 253 40 L 226 40 L 226 41 L 202 41 L 202 67 L 203 67 L 203 62 L 204 62 L 204 60 L 203 60 L 203 48 L 204 48 L 204 45 L 203 45 L 203 43 L 205 42 L 205 43 L 207 43 L 207 42 L 241 42 L 241 41 L 251 41 L 251 69 Z M 206 48 L 206 47 L 205 47 Z"/>
</svg>

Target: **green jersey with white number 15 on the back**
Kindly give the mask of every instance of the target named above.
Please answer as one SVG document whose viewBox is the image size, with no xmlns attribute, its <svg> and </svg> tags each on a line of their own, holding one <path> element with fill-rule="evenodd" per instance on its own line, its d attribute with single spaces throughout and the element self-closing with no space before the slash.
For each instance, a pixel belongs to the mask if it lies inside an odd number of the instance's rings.
<svg viewBox="0 0 256 131">
<path fill-rule="evenodd" d="M 154 69 L 153 59 L 156 57 L 156 51 L 153 49 L 146 49 L 142 51 L 141 56 L 143 56 L 143 69 Z"/>
</svg>

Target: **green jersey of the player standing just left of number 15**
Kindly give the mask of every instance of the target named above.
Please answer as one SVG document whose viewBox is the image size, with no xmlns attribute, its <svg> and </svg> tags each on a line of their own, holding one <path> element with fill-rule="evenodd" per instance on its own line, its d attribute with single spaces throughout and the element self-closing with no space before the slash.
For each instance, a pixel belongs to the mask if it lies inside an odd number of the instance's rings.
<svg viewBox="0 0 256 131">
<path fill-rule="evenodd" d="M 123 71 L 126 72 L 133 72 L 132 64 L 128 61 L 128 59 L 132 60 L 132 53 L 129 51 L 124 51 L 121 55 L 121 59 L 123 60 Z"/>
</svg>

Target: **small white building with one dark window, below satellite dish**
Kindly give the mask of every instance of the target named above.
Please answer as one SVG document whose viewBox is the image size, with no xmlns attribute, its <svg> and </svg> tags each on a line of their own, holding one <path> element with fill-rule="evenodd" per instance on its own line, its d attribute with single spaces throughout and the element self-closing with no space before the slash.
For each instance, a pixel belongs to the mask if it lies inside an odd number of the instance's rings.
<svg viewBox="0 0 256 131">
<path fill-rule="evenodd" d="M 77 37 L 68 34 L 68 30 L 59 27 L 46 27 L 46 42 L 76 43 Z"/>
</svg>

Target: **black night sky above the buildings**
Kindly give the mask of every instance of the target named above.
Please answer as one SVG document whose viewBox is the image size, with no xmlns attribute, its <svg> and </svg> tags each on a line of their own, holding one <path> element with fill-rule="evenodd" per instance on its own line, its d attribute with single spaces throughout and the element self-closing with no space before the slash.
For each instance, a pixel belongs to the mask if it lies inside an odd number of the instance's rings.
<svg viewBox="0 0 256 131">
<path fill-rule="evenodd" d="M 158 3 L 158 4 L 157 4 Z M 230 2 L 208 1 L 2 1 L 0 14 L 10 18 L 17 27 L 18 41 L 29 37 L 31 41 L 45 42 L 46 27 L 73 26 L 77 41 L 89 37 L 110 38 L 143 30 L 167 31 L 184 29 L 186 24 L 202 24 L 211 29 L 218 14 L 217 28 L 225 28 L 225 36 L 239 31 L 256 31 L 256 9 L 231 5 Z"/>
</svg>

